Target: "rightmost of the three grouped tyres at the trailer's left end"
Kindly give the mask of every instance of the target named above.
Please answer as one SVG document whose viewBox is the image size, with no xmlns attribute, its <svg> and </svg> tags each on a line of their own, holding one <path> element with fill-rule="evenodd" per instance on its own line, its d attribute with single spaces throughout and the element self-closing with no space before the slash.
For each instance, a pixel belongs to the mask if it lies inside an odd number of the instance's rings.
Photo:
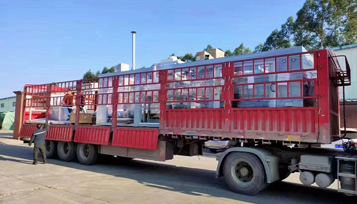
<svg viewBox="0 0 357 204">
<path fill-rule="evenodd" d="M 98 147 L 94 144 L 79 143 L 77 159 L 83 165 L 94 164 L 98 159 Z"/>
</svg>

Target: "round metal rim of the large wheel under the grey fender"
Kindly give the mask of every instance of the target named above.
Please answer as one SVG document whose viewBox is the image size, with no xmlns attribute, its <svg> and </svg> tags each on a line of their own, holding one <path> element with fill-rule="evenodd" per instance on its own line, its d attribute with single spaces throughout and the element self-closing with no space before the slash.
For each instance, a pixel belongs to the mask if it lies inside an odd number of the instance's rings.
<svg viewBox="0 0 357 204">
<path fill-rule="evenodd" d="M 254 170 L 251 165 L 245 161 L 237 161 L 232 165 L 233 179 L 240 185 L 249 185 L 254 177 Z"/>
</svg>

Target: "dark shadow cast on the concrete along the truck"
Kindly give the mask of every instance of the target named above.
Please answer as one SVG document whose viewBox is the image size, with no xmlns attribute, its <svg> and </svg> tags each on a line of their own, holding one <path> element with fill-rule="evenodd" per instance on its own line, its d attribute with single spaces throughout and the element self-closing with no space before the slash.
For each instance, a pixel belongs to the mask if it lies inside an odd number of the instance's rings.
<svg viewBox="0 0 357 204">
<path fill-rule="evenodd" d="M 12 161 L 30 164 L 33 149 L 27 146 L 7 145 L 0 142 L 0 161 Z M 3 156 L 12 157 L 11 159 Z M 214 156 L 214 155 L 213 155 Z M 16 159 L 14 159 L 16 158 Z M 26 161 L 28 160 L 28 161 Z M 40 160 L 42 161 L 42 160 Z M 215 179 L 215 171 L 176 167 L 139 160 L 107 159 L 102 163 L 84 166 L 77 162 L 49 160 L 50 164 L 105 173 L 113 176 L 136 180 L 154 188 L 181 192 L 196 196 L 224 197 L 253 203 L 355 203 L 355 197 L 347 197 L 336 190 L 305 187 L 299 184 L 281 182 L 270 185 L 263 192 L 254 196 L 245 196 L 231 191 L 224 178 Z M 133 173 L 121 174 L 123 169 Z"/>
</svg>

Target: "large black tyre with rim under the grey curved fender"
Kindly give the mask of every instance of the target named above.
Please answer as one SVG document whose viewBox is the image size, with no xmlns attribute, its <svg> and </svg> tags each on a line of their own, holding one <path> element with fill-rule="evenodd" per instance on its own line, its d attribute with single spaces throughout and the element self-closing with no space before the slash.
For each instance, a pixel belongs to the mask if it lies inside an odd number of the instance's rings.
<svg viewBox="0 0 357 204">
<path fill-rule="evenodd" d="M 267 182 L 260 160 L 247 152 L 233 152 L 224 161 L 223 174 L 228 186 L 236 193 L 254 195 Z"/>
</svg>

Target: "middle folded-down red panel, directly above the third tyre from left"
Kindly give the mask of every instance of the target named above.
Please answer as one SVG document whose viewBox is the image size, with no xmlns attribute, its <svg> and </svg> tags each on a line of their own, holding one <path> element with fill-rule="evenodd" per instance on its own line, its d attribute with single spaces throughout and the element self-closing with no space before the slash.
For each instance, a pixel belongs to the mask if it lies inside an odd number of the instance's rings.
<svg viewBox="0 0 357 204">
<path fill-rule="evenodd" d="M 110 130 L 106 126 L 77 126 L 74 142 L 109 145 Z"/>
</svg>

